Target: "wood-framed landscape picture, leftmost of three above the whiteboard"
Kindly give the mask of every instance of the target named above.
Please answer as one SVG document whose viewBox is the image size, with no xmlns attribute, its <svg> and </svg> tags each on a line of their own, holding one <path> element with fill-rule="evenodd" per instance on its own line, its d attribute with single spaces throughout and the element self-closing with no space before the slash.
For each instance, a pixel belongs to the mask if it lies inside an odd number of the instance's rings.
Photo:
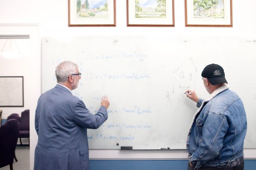
<svg viewBox="0 0 256 170">
<path fill-rule="evenodd" d="M 116 0 L 68 0 L 68 26 L 116 26 Z"/>
</svg>

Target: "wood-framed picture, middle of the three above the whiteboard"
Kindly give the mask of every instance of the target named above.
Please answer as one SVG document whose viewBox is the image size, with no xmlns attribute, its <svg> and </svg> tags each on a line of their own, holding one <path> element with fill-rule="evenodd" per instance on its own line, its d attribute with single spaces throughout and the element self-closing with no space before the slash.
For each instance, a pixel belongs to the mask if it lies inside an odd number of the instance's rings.
<svg viewBox="0 0 256 170">
<path fill-rule="evenodd" d="M 126 0 L 127 26 L 174 26 L 174 0 Z"/>
</svg>

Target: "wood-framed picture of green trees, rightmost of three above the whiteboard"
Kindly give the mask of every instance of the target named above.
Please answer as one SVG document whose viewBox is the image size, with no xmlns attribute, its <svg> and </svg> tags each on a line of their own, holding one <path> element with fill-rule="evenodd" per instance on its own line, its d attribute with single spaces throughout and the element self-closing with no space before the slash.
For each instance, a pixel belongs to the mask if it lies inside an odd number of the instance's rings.
<svg viewBox="0 0 256 170">
<path fill-rule="evenodd" d="M 232 0 L 185 0 L 185 25 L 232 27 Z"/>
</svg>

